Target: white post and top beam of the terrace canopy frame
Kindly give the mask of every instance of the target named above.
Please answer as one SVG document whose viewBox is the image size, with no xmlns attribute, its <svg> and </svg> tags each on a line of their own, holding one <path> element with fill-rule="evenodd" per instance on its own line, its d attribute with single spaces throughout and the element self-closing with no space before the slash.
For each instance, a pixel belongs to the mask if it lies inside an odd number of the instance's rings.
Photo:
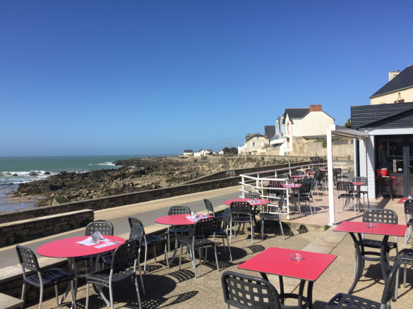
<svg viewBox="0 0 413 309">
<path fill-rule="evenodd" d="M 332 175 L 333 168 L 332 168 L 332 135 L 342 136 L 342 137 L 351 137 L 353 139 L 358 139 L 360 141 L 360 153 L 363 153 L 363 158 L 360 157 L 360 161 L 363 160 L 364 164 L 361 165 L 364 167 L 364 171 L 360 171 L 360 174 L 367 175 L 367 155 L 366 155 L 366 138 L 368 138 L 368 133 L 353 130 L 351 128 L 346 128 L 343 126 L 337 126 L 335 124 L 330 125 L 327 128 L 327 160 L 328 160 L 328 175 Z M 355 147 L 354 143 L 354 147 Z M 354 150 L 354 158 L 356 156 L 356 151 Z M 354 160 L 355 161 L 355 160 Z M 354 168 L 354 172 L 357 170 Z M 357 175 L 360 176 L 360 175 Z M 335 224 L 335 198 L 334 198 L 334 182 L 333 177 L 328 177 L 328 212 L 330 214 L 330 225 Z"/>
</svg>

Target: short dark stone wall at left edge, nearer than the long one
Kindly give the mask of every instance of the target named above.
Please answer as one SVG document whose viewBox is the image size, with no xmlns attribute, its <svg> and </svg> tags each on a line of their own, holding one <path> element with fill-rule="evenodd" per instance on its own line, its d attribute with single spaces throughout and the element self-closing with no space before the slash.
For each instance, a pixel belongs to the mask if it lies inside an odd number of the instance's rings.
<svg viewBox="0 0 413 309">
<path fill-rule="evenodd" d="M 65 207 L 63 207 L 64 209 Z M 94 220 L 92 209 L 0 224 L 0 247 L 85 227 Z"/>
</svg>

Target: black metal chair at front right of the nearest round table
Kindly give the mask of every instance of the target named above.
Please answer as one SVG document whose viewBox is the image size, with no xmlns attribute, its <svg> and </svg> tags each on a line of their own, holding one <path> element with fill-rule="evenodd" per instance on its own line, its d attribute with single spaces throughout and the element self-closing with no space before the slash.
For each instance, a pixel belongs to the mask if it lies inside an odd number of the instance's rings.
<svg viewBox="0 0 413 309">
<path fill-rule="evenodd" d="M 138 226 L 136 226 L 138 227 Z M 89 306 L 89 284 L 96 284 L 101 287 L 109 288 L 109 297 L 111 308 L 114 309 L 114 284 L 120 284 L 125 279 L 132 278 L 135 281 L 136 294 L 138 295 L 139 308 L 142 308 L 140 303 L 140 295 L 138 288 L 138 281 L 136 279 L 136 263 L 138 262 L 138 250 L 140 248 L 139 240 L 131 240 L 121 244 L 112 256 L 112 263 L 110 268 L 105 268 L 102 271 L 97 271 L 86 277 L 86 309 Z M 127 270 L 133 263 L 134 269 Z"/>
</svg>

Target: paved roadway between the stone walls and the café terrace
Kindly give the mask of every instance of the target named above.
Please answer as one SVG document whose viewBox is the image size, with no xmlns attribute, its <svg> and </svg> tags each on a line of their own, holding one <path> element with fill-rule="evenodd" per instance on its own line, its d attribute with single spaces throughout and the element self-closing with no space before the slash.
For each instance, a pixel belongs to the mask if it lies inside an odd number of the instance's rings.
<svg viewBox="0 0 413 309">
<path fill-rule="evenodd" d="M 224 189 L 211 190 L 207 192 L 198 192 L 187 194 L 183 196 L 174 196 L 171 198 L 162 198 L 156 201 L 149 201 L 144 203 L 136 203 L 116 208 L 103 209 L 95 211 L 94 220 L 107 220 L 114 225 L 114 234 L 120 236 L 124 233 L 129 233 L 128 216 L 139 218 L 144 227 L 154 225 L 154 220 L 161 216 L 166 216 L 169 207 L 175 205 L 186 205 L 191 210 L 201 211 L 205 209 L 204 198 L 208 198 L 212 205 L 218 206 L 224 204 L 224 201 L 238 198 L 240 196 L 240 187 L 228 187 Z M 21 243 L 22 246 L 28 247 L 36 252 L 42 244 L 59 240 L 63 238 L 70 238 L 75 236 L 83 236 L 85 228 L 59 233 L 58 235 L 40 238 L 38 240 L 31 240 L 29 242 Z M 0 268 L 12 266 L 19 263 L 17 259 L 16 246 L 12 245 L 0 249 Z M 38 255 L 39 257 L 39 255 Z"/>
</svg>

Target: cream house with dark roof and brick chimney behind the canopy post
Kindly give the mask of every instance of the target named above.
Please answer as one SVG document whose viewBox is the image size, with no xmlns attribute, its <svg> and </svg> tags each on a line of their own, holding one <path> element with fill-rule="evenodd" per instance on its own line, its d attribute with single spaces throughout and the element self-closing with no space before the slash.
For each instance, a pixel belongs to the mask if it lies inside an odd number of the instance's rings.
<svg viewBox="0 0 413 309">
<path fill-rule="evenodd" d="M 324 113 L 321 105 L 310 105 L 310 108 L 286 108 L 283 116 L 284 143 L 279 146 L 279 155 L 299 155 L 293 151 L 293 137 L 326 138 L 327 128 L 334 124 L 334 119 Z"/>
</svg>

